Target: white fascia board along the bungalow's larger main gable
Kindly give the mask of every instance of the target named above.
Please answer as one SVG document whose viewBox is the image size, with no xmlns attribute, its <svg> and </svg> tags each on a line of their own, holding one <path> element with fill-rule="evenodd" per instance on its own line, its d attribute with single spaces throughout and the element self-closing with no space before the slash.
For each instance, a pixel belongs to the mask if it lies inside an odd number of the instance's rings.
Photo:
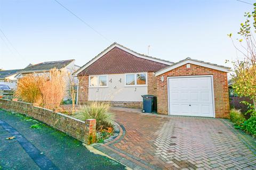
<svg viewBox="0 0 256 170">
<path fill-rule="evenodd" d="M 111 49 L 115 48 L 115 47 L 118 47 L 122 50 L 124 50 L 125 52 L 127 53 L 130 53 L 134 56 L 137 56 L 137 57 L 140 57 L 140 58 L 144 58 L 146 60 L 150 60 L 150 61 L 154 61 L 154 62 L 158 62 L 158 63 L 162 63 L 162 64 L 166 64 L 166 65 L 172 65 L 172 63 L 169 63 L 169 62 L 165 62 L 165 61 L 161 61 L 161 60 L 157 60 L 155 58 L 150 58 L 150 57 L 146 57 L 146 56 L 142 56 L 142 55 L 139 55 L 137 53 L 134 53 L 132 52 L 131 50 L 127 49 L 127 48 L 124 48 L 122 46 L 119 46 L 118 44 L 114 44 L 113 46 L 109 47 L 108 50 L 106 50 L 105 52 L 103 52 L 101 55 L 99 55 L 98 57 L 94 58 L 94 60 L 92 60 L 91 62 L 87 63 L 85 66 L 83 66 L 81 68 L 81 70 L 79 70 L 78 72 L 75 73 L 75 75 L 81 73 L 84 69 L 86 69 L 87 67 L 89 67 L 90 65 L 92 65 L 95 61 L 99 60 L 99 58 L 101 58 L 103 55 L 107 54 Z"/>
</svg>

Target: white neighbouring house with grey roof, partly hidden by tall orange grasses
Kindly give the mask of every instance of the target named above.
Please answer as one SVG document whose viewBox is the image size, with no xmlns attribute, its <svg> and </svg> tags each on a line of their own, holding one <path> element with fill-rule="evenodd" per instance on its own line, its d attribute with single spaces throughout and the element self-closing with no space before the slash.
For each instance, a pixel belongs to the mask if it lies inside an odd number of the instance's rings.
<svg viewBox="0 0 256 170">
<path fill-rule="evenodd" d="M 43 62 L 43 63 L 38 63 L 38 64 L 31 64 L 27 66 L 25 69 L 22 69 L 18 71 L 19 75 L 17 75 L 17 78 L 24 77 L 27 74 L 35 74 L 35 75 L 40 75 L 40 74 L 48 74 L 51 69 L 65 69 L 67 72 L 71 73 L 71 75 L 79 69 L 78 65 L 75 65 L 75 60 L 62 60 L 62 61 L 51 61 L 51 62 Z M 72 75 L 73 76 L 73 75 Z M 77 78 L 74 79 L 75 84 L 77 84 Z M 69 89 L 69 82 L 67 78 L 67 91 Z M 70 99 L 70 95 L 67 92 L 67 95 L 63 100 Z"/>
</svg>

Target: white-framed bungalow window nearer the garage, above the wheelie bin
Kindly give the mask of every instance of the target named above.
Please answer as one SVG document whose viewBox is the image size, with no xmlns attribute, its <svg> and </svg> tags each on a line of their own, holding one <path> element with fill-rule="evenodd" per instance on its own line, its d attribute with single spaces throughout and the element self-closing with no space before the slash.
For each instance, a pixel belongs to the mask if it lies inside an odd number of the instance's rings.
<svg viewBox="0 0 256 170">
<path fill-rule="evenodd" d="M 135 80 L 136 79 L 136 80 Z M 135 73 L 125 75 L 125 85 L 126 86 L 143 86 L 147 84 L 147 74 L 146 73 Z"/>
</svg>

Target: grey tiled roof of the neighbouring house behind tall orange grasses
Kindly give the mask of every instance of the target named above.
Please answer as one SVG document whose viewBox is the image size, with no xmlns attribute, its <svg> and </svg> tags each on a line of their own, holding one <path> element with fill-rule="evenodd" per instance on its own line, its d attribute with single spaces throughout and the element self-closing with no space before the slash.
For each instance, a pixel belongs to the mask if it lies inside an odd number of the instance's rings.
<svg viewBox="0 0 256 170">
<path fill-rule="evenodd" d="M 52 62 L 43 62 L 35 65 L 30 65 L 25 69 L 20 70 L 18 73 L 33 73 L 33 72 L 44 72 L 50 71 L 51 69 L 62 69 L 68 64 L 75 60 L 62 60 L 62 61 L 52 61 Z"/>
</svg>

